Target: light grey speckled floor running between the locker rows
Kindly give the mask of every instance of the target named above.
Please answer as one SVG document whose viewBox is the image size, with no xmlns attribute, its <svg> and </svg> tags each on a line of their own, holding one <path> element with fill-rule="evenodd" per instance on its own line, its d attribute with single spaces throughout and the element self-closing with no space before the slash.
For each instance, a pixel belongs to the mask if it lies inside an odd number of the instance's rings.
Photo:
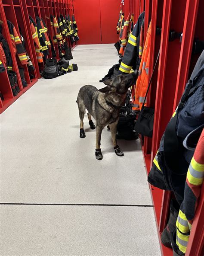
<svg viewBox="0 0 204 256">
<path fill-rule="evenodd" d="M 114 45 L 80 45 L 73 56 L 77 72 L 39 80 L 0 116 L 0 255 L 159 256 L 139 140 L 118 141 L 117 157 L 104 129 L 98 161 L 87 116 L 79 138 L 77 93 L 103 86 Z"/>
</svg>

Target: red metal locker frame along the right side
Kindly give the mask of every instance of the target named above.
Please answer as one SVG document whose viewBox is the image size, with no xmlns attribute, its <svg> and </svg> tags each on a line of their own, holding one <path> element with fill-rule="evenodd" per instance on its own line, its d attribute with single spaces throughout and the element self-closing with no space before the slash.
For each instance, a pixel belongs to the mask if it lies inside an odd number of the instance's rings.
<svg viewBox="0 0 204 256">
<path fill-rule="evenodd" d="M 204 24 L 204 1 L 191 0 L 126 0 L 124 13 L 134 13 L 134 23 L 139 14 L 145 10 L 145 29 L 151 20 L 151 54 L 150 69 L 154 67 L 159 48 L 159 66 L 155 70 L 151 89 L 148 93 L 148 106 L 155 108 L 155 124 L 153 138 L 145 138 L 142 145 L 147 173 L 158 150 L 161 136 L 176 109 L 185 84 L 192 72 L 198 55 L 192 55 L 194 38 L 204 40 L 202 24 Z M 161 28 L 161 35 L 156 29 Z M 179 38 L 169 42 L 169 32 L 183 32 L 182 43 Z M 173 65 L 170 65 L 173 63 Z M 149 77 L 150 77 L 149 76 Z M 167 104 L 168 102 L 168 104 Z M 169 205 L 172 194 L 150 186 L 152 200 L 155 205 L 155 217 L 158 224 L 159 237 L 169 217 Z M 204 192 L 204 188 L 202 188 Z M 186 251 L 187 256 L 204 254 L 204 193 L 200 198 L 195 221 Z M 161 241 L 160 241 L 161 244 Z M 161 252 L 165 256 L 173 255 L 172 250 L 161 244 Z"/>
</svg>

